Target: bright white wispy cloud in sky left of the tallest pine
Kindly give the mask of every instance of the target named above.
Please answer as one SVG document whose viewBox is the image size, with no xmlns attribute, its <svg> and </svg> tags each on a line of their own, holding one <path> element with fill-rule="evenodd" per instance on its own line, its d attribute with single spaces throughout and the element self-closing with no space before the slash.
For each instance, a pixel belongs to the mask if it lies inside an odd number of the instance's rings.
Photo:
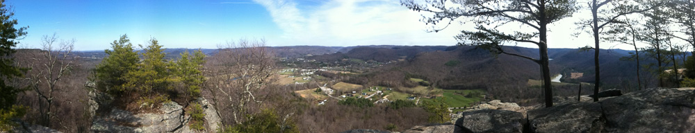
<svg viewBox="0 0 695 133">
<path fill-rule="evenodd" d="M 280 45 L 453 45 L 459 33 L 426 33 L 421 16 L 398 1 L 334 0 L 310 7 L 291 0 L 254 1 L 283 30 Z"/>
</svg>

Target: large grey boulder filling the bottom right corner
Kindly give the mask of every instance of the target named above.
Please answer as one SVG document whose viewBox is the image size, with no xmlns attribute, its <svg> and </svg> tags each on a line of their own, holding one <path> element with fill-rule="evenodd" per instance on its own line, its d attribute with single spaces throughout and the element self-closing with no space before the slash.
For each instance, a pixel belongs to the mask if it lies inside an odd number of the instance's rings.
<svg viewBox="0 0 695 133">
<path fill-rule="evenodd" d="M 601 107 L 608 132 L 695 132 L 694 89 L 647 89 Z"/>
</svg>

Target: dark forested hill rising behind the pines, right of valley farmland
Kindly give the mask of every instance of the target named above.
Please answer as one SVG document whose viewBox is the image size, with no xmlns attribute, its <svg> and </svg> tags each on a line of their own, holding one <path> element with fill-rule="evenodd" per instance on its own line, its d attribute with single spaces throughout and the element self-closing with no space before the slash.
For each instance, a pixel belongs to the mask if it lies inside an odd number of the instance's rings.
<svg viewBox="0 0 695 133">
<path fill-rule="evenodd" d="M 407 47 L 407 46 L 404 46 Z M 314 55 L 313 59 L 343 59 L 361 57 L 361 60 L 369 60 L 368 55 L 373 55 L 375 61 L 386 61 L 383 58 L 395 57 L 398 48 L 353 48 L 348 53 L 334 53 L 329 55 Z M 408 78 L 420 78 L 430 81 L 432 85 L 442 89 L 486 89 L 488 94 L 506 101 L 520 101 L 542 96 L 540 89 L 532 89 L 529 85 L 532 80 L 540 80 L 539 65 L 530 60 L 512 55 L 493 55 L 489 51 L 474 46 L 449 46 L 443 51 L 427 48 L 419 53 L 398 62 L 386 64 L 383 67 L 371 69 L 360 76 L 350 78 L 347 82 L 361 85 L 382 85 L 391 87 L 409 86 Z M 373 52 L 378 51 L 378 52 Z M 386 53 L 379 53 L 386 51 Z M 518 53 L 530 57 L 538 57 L 537 48 L 505 47 L 509 53 Z M 604 88 L 631 88 L 637 85 L 637 67 L 635 61 L 621 60 L 630 56 L 629 51 L 601 50 L 600 65 Z M 564 75 L 563 82 L 594 82 L 594 55 L 593 51 L 579 51 L 575 48 L 551 48 L 548 50 L 551 76 Z M 362 55 L 362 56 L 359 56 Z M 379 58 L 378 55 L 387 55 Z M 343 56 L 343 57 L 341 57 Z M 366 58 L 365 58 L 366 57 Z M 646 56 L 644 56 L 646 57 Z M 653 60 L 642 60 L 642 64 L 649 64 Z M 393 59 L 391 59 L 393 60 Z M 570 79 L 571 73 L 583 73 L 578 79 Z M 656 79 L 649 71 L 642 71 L 643 80 Z M 406 79 L 406 80 L 404 80 Z M 411 83 L 410 83 L 411 84 Z M 650 86 L 654 86 L 651 84 Z M 587 89 L 589 87 L 585 87 Z M 576 87 L 556 87 L 566 89 L 558 93 L 576 93 Z M 534 91 L 535 90 L 535 91 Z M 585 92 L 588 92 L 585 91 Z"/>
</svg>

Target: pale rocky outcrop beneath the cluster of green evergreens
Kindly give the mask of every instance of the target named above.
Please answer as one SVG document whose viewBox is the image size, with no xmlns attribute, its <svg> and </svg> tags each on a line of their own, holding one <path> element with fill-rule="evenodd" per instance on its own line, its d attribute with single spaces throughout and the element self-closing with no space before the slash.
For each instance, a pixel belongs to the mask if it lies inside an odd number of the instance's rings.
<svg viewBox="0 0 695 133">
<path fill-rule="evenodd" d="M 204 109 L 206 131 L 215 131 L 220 123 L 220 116 L 215 107 L 203 98 L 197 103 Z M 183 106 L 174 103 L 163 103 L 159 112 L 133 114 L 122 109 L 111 109 L 108 114 L 95 116 L 92 122 L 94 132 L 206 132 L 191 130 L 188 127 L 190 114 L 186 114 Z"/>
</svg>

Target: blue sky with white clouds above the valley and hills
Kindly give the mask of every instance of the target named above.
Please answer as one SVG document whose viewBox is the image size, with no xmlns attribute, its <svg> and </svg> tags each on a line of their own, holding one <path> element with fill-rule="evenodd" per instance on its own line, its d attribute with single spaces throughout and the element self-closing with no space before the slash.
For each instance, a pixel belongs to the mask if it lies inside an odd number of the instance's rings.
<svg viewBox="0 0 695 133">
<path fill-rule="evenodd" d="M 264 38 L 268 46 L 445 45 L 466 28 L 439 33 L 419 12 L 397 0 L 8 0 L 19 26 L 29 26 L 21 47 L 38 48 L 43 35 L 76 39 L 76 49 L 104 50 L 120 35 L 133 44 L 155 37 L 165 48 L 217 48 L 237 39 Z M 571 37 L 572 20 L 551 28 L 553 48 L 578 48 L 591 38 Z M 530 46 L 520 44 L 520 46 Z M 532 46 L 533 47 L 533 46 Z M 628 47 L 629 48 L 629 47 Z"/>
</svg>

